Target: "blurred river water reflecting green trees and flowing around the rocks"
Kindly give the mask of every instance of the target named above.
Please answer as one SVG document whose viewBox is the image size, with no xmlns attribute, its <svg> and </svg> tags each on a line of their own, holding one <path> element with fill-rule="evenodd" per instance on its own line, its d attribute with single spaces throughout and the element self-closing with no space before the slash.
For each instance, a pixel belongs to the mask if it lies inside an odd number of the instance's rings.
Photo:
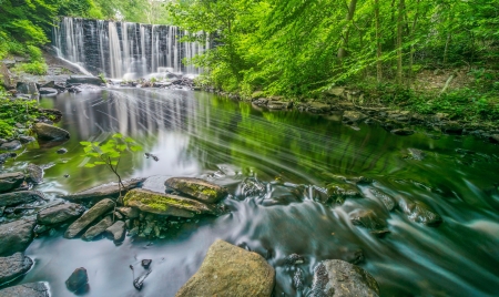
<svg viewBox="0 0 499 297">
<path fill-rule="evenodd" d="M 104 168 L 83 167 L 80 141 L 104 141 L 113 132 L 143 146 L 128 153 L 122 176 L 150 177 L 144 187 L 164 191 L 171 176 L 197 176 L 225 185 L 231 213 L 183 224 L 164 239 L 64 239 L 61 232 L 35 238 L 27 255 L 34 268 L 18 283 L 49 281 L 53 296 L 71 296 L 64 280 L 78 267 L 89 272 L 88 296 L 174 296 L 197 270 L 210 245 L 221 238 L 265 256 L 276 269 L 275 296 L 301 296 L 292 285 L 294 268 L 285 257 L 305 263 L 305 285 L 324 259 L 359 260 L 378 281 L 381 296 L 493 296 L 499 287 L 498 146 L 467 136 L 419 132 L 396 136 L 378 126 L 343 125 L 336 116 L 271 112 L 248 103 L 190 91 L 154 89 L 88 90 L 44 98 L 59 109 L 67 143 L 31 144 L 12 168 L 28 162 L 45 168 L 37 188 L 57 198 L 114 181 Z M 59 155 L 57 150 L 68 153 Z M 406 157 L 408 148 L 422 160 Z M 464 151 L 469 150 L 469 151 Z M 159 161 L 144 157 L 152 153 Z M 366 176 L 364 197 L 344 204 L 296 195 L 294 185 L 325 186 L 332 174 Z M 69 175 L 64 177 L 64 175 Z M 261 195 L 241 195 L 253 176 L 266 185 Z M 276 182 L 278 181 L 278 182 Z M 281 184 L 279 184 L 281 183 Z M 282 185 L 285 183 L 285 185 Z M 388 212 L 370 192 L 424 202 L 442 223 L 427 226 L 399 209 Z M 379 238 L 355 226 L 349 214 L 374 209 L 389 234 Z M 361 250 L 361 255 L 359 256 Z M 152 274 L 141 291 L 132 285 L 150 258 Z M 283 295 L 285 294 L 285 295 Z"/>
</svg>

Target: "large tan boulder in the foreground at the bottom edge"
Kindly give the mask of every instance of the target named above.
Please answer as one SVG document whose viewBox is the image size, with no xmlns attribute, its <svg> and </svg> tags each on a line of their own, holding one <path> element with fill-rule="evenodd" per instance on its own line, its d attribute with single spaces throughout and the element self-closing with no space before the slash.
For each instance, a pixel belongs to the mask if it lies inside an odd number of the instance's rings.
<svg viewBox="0 0 499 297">
<path fill-rule="evenodd" d="M 274 268 L 261 255 L 218 239 L 175 296 L 271 296 L 274 284 Z"/>
</svg>

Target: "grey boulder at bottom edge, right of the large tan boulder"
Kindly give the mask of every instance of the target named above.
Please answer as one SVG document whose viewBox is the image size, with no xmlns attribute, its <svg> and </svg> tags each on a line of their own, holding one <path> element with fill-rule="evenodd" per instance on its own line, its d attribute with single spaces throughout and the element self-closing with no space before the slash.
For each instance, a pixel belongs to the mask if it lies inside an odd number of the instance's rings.
<svg viewBox="0 0 499 297">
<path fill-rule="evenodd" d="M 379 286 L 376 279 L 357 265 L 333 259 L 319 263 L 314 268 L 313 296 L 377 297 Z"/>
</svg>

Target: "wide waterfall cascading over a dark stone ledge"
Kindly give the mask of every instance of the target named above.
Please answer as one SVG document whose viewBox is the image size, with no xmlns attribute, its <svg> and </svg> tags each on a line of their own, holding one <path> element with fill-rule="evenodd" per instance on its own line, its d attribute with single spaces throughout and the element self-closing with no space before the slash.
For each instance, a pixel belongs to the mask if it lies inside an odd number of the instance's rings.
<svg viewBox="0 0 499 297">
<path fill-rule="evenodd" d="M 180 42 L 189 34 L 173 25 L 112 22 L 61 18 L 52 31 L 52 43 L 60 58 L 90 73 L 112 79 L 161 76 L 165 70 L 200 74 L 202 69 L 184 65 L 210 49 L 206 42 Z"/>
</svg>

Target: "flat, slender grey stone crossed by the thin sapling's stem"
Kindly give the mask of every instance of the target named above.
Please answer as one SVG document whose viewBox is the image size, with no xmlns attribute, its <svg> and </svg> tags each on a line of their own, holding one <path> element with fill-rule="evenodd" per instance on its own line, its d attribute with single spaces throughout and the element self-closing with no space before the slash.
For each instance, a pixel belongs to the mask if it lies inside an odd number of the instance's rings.
<svg viewBox="0 0 499 297">
<path fill-rule="evenodd" d="M 123 181 L 124 188 L 122 188 L 122 194 L 128 191 L 142 186 L 145 178 L 134 178 L 130 181 Z M 69 201 L 84 201 L 84 199 L 99 199 L 104 197 L 118 197 L 120 195 L 120 190 L 118 183 L 110 183 L 105 185 L 100 185 L 92 187 L 79 193 L 69 194 L 63 196 L 64 199 Z"/>
</svg>

